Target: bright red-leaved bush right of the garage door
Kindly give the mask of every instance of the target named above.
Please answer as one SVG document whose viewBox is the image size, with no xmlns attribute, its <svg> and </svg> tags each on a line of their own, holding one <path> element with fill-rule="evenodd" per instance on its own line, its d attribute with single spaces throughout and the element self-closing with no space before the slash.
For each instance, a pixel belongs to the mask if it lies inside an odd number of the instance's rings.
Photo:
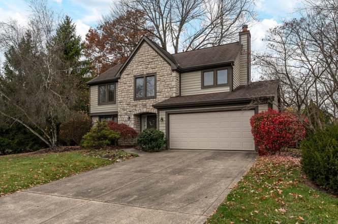
<svg viewBox="0 0 338 224">
<path fill-rule="evenodd" d="M 292 112 L 268 109 L 250 119 L 259 155 L 280 151 L 305 137 L 305 127 Z"/>
</svg>

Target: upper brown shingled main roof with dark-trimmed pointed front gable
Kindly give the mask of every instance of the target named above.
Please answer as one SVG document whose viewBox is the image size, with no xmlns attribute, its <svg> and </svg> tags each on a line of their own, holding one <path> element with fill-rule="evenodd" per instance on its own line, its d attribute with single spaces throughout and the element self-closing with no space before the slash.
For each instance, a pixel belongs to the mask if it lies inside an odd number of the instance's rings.
<svg viewBox="0 0 338 224">
<path fill-rule="evenodd" d="M 129 55 L 125 63 L 113 66 L 106 72 L 100 74 L 98 77 L 87 82 L 88 85 L 97 84 L 105 81 L 112 81 L 118 79 L 120 74 L 127 67 L 134 55 L 143 43 L 147 43 L 153 50 L 155 50 L 164 60 L 168 62 L 172 70 L 187 71 L 190 69 L 198 69 L 207 66 L 224 65 L 233 62 L 242 49 L 239 42 L 230 44 L 223 44 L 214 47 L 207 47 L 192 51 L 185 51 L 176 54 L 170 54 L 168 51 L 160 47 L 146 36 L 143 36 L 133 52 Z"/>
</svg>

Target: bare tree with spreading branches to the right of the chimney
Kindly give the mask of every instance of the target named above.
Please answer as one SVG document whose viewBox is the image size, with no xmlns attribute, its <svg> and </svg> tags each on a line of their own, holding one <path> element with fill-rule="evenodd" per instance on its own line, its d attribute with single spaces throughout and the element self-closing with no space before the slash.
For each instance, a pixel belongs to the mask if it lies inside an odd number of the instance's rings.
<svg viewBox="0 0 338 224">
<path fill-rule="evenodd" d="M 323 111 L 337 122 L 338 3 L 305 2 L 302 17 L 269 30 L 266 53 L 255 55 L 263 79 L 278 79 L 284 105 L 323 128 Z"/>
</svg>

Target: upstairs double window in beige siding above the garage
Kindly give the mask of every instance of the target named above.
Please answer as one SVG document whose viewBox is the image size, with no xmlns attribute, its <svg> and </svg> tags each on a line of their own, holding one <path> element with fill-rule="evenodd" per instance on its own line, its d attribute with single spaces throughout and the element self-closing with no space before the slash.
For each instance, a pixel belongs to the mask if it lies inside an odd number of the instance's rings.
<svg viewBox="0 0 338 224">
<path fill-rule="evenodd" d="M 202 72 L 202 88 L 228 86 L 228 68 L 206 70 Z"/>
</svg>

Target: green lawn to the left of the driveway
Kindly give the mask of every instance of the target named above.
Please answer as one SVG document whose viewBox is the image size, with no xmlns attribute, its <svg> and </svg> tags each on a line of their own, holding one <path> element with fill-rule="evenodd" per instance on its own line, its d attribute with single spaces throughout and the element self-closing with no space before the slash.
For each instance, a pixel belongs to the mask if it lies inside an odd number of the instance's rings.
<svg viewBox="0 0 338 224">
<path fill-rule="evenodd" d="M 0 196 L 137 156 L 122 150 L 0 156 Z"/>
</svg>

